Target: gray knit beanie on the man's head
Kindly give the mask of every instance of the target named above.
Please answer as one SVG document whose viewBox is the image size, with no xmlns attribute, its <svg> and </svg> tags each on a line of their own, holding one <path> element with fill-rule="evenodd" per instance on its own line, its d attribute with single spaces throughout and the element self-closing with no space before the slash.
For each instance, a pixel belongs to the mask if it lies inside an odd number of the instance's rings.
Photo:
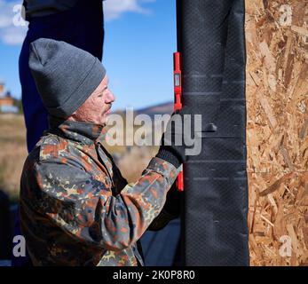
<svg viewBox="0 0 308 284">
<path fill-rule="evenodd" d="M 30 44 L 29 67 L 49 114 L 67 118 L 99 86 L 99 59 L 71 44 L 40 38 Z"/>
</svg>

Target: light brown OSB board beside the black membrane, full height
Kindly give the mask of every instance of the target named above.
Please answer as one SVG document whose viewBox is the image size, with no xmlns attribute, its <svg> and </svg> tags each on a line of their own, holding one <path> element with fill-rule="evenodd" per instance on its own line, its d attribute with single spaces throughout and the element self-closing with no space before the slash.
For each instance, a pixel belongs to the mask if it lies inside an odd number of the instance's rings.
<svg viewBox="0 0 308 284">
<path fill-rule="evenodd" d="M 246 0 L 251 265 L 308 265 L 307 26 L 306 0 Z"/>
</svg>

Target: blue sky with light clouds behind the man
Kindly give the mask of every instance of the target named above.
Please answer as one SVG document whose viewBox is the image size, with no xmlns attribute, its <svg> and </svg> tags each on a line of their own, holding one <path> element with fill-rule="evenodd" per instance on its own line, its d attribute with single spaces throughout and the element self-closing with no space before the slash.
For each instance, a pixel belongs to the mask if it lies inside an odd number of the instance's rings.
<svg viewBox="0 0 308 284">
<path fill-rule="evenodd" d="M 20 98 L 18 59 L 27 28 L 13 27 L 14 4 L 0 0 L 0 80 Z M 173 99 L 172 53 L 176 51 L 175 0 L 107 0 L 103 63 L 114 109 L 140 108 Z"/>
</svg>

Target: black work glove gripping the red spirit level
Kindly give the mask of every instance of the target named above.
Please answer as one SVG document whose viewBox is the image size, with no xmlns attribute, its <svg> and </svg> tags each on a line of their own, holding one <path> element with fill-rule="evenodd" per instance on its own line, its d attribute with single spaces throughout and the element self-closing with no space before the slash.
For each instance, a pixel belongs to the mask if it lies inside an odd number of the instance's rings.
<svg viewBox="0 0 308 284">
<path fill-rule="evenodd" d="M 184 121 L 188 119 L 184 114 L 186 114 L 185 108 L 171 115 L 166 131 L 162 134 L 160 149 L 156 154 L 156 157 L 170 162 L 177 169 L 186 162 L 185 135 L 191 134 L 190 130 L 184 129 Z"/>
</svg>

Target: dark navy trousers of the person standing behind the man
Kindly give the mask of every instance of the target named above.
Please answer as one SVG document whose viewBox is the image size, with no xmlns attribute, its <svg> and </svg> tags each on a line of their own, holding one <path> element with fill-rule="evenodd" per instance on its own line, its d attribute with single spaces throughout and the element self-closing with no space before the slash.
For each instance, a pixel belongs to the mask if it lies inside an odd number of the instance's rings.
<svg viewBox="0 0 308 284">
<path fill-rule="evenodd" d="M 28 67 L 29 44 L 41 37 L 73 44 L 101 60 L 104 43 L 102 0 L 80 0 L 68 11 L 29 20 L 28 33 L 20 51 L 20 83 L 28 152 L 48 128 L 47 111 Z M 21 234 L 19 218 L 15 222 L 14 234 Z M 29 262 L 28 257 L 12 256 L 12 265 L 27 265 Z"/>
</svg>

